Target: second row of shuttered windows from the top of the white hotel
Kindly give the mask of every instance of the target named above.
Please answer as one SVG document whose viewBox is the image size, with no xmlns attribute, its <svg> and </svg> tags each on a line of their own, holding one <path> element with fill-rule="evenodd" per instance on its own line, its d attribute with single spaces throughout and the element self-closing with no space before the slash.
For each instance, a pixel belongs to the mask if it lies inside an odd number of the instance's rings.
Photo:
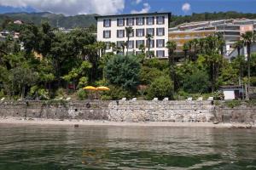
<svg viewBox="0 0 256 170">
<path fill-rule="evenodd" d="M 145 34 L 145 29 L 136 29 L 136 37 L 145 37 L 148 34 L 154 36 L 154 28 L 147 28 L 146 34 Z M 129 36 L 134 37 L 134 30 L 131 32 Z M 156 28 L 156 36 L 165 36 L 165 28 Z M 103 31 L 103 38 L 110 38 L 110 37 L 111 37 L 111 31 Z M 125 37 L 125 30 L 117 30 L 116 37 Z M 128 37 L 127 34 L 126 34 L 126 37 Z"/>
</svg>

